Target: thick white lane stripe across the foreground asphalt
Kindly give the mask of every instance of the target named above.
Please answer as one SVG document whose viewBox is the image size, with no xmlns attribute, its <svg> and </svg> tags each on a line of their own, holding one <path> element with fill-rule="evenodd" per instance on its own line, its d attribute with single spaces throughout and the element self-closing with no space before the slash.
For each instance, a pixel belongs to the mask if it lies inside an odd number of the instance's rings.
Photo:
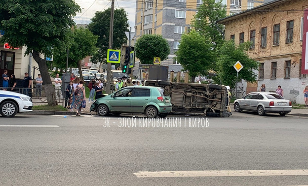
<svg viewBox="0 0 308 186">
<path fill-rule="evenodd" d="M 134 173 L 138 178 L 162 177 L 221 177 L 221 176 L 297 176 L 308 175 L 308 170 L 212 170 L 212 171 L 157 171 Z"/>
</svg>

